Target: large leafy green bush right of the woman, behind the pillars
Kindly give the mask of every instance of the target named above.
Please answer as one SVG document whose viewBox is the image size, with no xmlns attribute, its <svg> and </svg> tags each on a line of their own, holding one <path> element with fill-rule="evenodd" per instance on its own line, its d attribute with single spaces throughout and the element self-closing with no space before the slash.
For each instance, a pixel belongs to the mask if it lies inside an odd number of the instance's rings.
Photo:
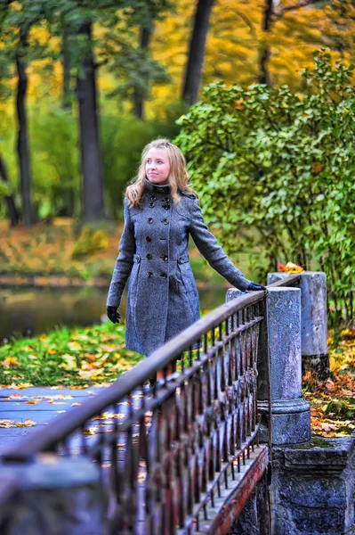
<svg viewBox="0 0 355 535">
<path fill-rule="evenodd" d="M 355 291 L 354 67 L 315 53 L 306 95 L 287 86 L 207 86 L 177 138 L 209 223 L 231 253 L 326 271 L 335 311 Z M 256 238 L 248 234 L 256 229 Z M 243 232 L 245 233 L 244 238 Z M 343 310 L 344 307 L 344 310 Z"/>
</svg>

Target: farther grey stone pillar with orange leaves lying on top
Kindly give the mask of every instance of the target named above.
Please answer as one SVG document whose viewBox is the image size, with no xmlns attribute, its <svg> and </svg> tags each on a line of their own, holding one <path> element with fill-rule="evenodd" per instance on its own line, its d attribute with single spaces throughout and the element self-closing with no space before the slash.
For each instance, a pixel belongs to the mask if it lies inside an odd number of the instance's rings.
<svg viewBox="0 0 355 535">
<path fill-rule="evenodd" d="M 304 271 L 300 275 L 303 374 L 311 371 L 319 381 L 324 381 L 329 376 L 326 274 Z M 269 273 L 268 284 L 288 276 L 287 273 Z"/>
</svg>

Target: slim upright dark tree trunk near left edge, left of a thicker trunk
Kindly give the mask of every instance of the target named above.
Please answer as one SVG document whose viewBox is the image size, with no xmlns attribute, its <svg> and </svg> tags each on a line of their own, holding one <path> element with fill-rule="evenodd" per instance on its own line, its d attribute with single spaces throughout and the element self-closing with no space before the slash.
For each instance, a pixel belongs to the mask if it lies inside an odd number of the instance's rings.
<svg viewBox="0 0 355 535">
<path fill-rule="evenodd" d="M 20 29 L 20 46 L 16 52 L 16 68 L 18 74 L 18 85 L 16 95 L 16 111 L 19 124 L 17 138 L 17 152 L 20 163 L 20 192 L 22 200 L 22 218 L 25 226 L 33 223 L 32 203 L 31 203 L 31 169 L 28 151 L 28 119 L 26 110 L 26 94 L 28 88 L 28 77 L 26 65 L 22 59 L 24 50 L 28 46 L 28 32 Z"/>
</svg>

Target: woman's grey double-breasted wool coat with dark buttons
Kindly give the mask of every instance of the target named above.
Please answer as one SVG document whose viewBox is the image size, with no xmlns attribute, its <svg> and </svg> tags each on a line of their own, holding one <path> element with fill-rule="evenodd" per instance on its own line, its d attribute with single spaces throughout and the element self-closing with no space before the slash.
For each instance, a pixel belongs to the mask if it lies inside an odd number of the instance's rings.
<svg viewBox="0 0 355 535">
<path fill-rule="evenodd" d="M 170 185 L 146 179 L 141 208 L 129 208 L 119 254 L 109 285 L 108 306 L 119 307 L 129 278 L 125 346 L 149 355 L 199 318 L 198 288 L 189 263 L 192 236 L 198 250 L 218 273 L 239 290 L 250 281 L 228 259 L 204 222 L 193 193 L 179 192 L 176 205 Z"/>
</svg>

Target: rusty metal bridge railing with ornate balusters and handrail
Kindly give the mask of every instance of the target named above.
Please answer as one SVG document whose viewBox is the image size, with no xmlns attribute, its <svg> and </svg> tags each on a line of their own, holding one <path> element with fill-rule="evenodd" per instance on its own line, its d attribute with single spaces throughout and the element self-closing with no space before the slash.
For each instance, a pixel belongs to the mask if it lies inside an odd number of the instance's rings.
<svg viewBox="0 0 355 535">
<path fill-rule="evenodd" d="M 264 292 L 214 309 L 3 462 L 39 452 L 92 458 L 108 533 L 227 533 L 269 460 L 257 414 L 258 367 L 264 383 L 270 367 L 265 310 Z M 148 396 L 157 372 L 163 379 Z"/>
</svg>

